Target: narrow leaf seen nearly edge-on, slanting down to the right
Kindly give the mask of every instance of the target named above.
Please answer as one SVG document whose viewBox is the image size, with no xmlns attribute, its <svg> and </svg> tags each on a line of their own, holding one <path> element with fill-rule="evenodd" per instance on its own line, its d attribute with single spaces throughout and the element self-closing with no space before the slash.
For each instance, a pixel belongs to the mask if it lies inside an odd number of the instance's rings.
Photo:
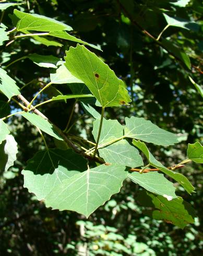
<svg viewBox="0 0 203 256">
<path fill-rule="evenodd" d="M 138 147 L 147 157 L 149 164 L 151 166 L 154 166 L 156 168 L 158 168 L 160 171 L 162 171 L 163 173 L 165 173 L 166 175 L 168 175 L 169 177 L 173 178 L 174 180 L 176 180 L 178 183 L 180 183 L 183 188 L 189 193 L 191 194 L 192 192 L 194 192 L 194 187 L 193 185 L 188 181 L 188 179 L 181 173 L 177 173 L 174 172 L 172 170 L 167 169 L 165 166 L 163 166 L 156 158 L 153 157 L 153 155 L 149 152 L 149 149 L 147 148 L 147 146 L 145 145 L 144 142 L 140 142 L 140 141 L 135 141 L 135 139 L 133 139 L 133 144 Z"/>
</svg>

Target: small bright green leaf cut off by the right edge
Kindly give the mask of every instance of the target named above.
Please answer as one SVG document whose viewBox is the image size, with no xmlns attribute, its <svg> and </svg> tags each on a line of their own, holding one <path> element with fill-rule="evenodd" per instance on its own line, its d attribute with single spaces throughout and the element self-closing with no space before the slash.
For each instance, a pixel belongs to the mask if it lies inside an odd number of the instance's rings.
<svg viewBox="0 0 203 256">
<path fill-rule="evenodd" d="M 203 146 L 199 142 L 188 144 L 187 157 L 198 164 L 203 164 Z"/>
</svg>

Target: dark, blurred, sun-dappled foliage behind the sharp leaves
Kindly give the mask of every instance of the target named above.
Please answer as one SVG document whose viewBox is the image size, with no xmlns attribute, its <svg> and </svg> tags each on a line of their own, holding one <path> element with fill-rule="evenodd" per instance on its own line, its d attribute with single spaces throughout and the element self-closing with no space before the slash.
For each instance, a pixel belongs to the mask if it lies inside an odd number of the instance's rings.
<svg viewBox="0 0 203 256">
<path fill-rule="evenodd" d="M 132 97 L 132 104 L 108 108 L 106 118 L 124 122 L 135 115 L 156 123 L 163 129 L 184 134 L 180 144 L 160 148 L 151 146 L 156 157 L 172 166 L 186 155 L 187 143 L 202 142 L 202 98 L 190 83 L 188 74 L 201 84 L 202 26 L 199 32 L 170 27 L 163 33 L 178 49 L 186 52 L 192 71 L 154 42 L 143 29 L 155 38 L 166 26 L 163 12 L 171 16 L 202 21 L 200 0 L 185 1 L 185 7 L 174 5 L 176 0 L 30 0 L 23 1 L 20 10 L 53 17 L 73 27 L 73 34 L 89 43 L 99 44 L 103 52 L 91 49 L 122 78 Z M 4 24 L 10 29 L 6 10 Z M 138 24 L 138 25 L 137 25 Z M 161 39 L 162 42 L 163 39 Z M 60 40 L 58 40 L 60 41 Z M 74 42 L 66 41 L 61 48 L 46 47 L 25 38 L 1 46 L 0 63 L 8 65 L 30 53 L 62 57 Z M 8 68 L 9 75 L 19 86 L 31 82 L 23 94 L 31 100 L 42 82 L 49 82 L 49 70 L 34 65 L 29 59 Z M 55 89 L 67 93 L 64 85 L 52 87 L 36 103 L 49 99 Z M 0 95 L 0 100 L 6 100 Z M 11 111 L 17 105 L 12 103 Z M 64 129 L 74 101 L 47 104 L 40 110 Z M 83 114 L 76 106 L 73 121 Z M 10 110 L 8 110 L 10 111 Z M 99 109 L 98 109 L 99 111 Z M 75 212 L 58 212 L 46 208 L 35 196 L 23 188 L 21 170 L 35 152 L 44 148 L 34 127 L 20 117 L 8 121 L 18 143 L 18 160 L 8 174 L 0 173 L 0 254 L 1 255 L 202 255 L 202 169 L 191 164 L 181 169 L 196 188 L 189 196 L 180 187 L 178 194 L 190 202 L 197 213 L 194 225 L 184 230 L 171 224 L 153 220 L 140 206 L 140 188 L 126 182 L 120 194 L 101 206 L 87 220 Z M 91 135 L 92 119 L 87 115 L 71 130 L 73 134 Z M 53 140 L 46 136 L 54 147 Z"/>
</svg>

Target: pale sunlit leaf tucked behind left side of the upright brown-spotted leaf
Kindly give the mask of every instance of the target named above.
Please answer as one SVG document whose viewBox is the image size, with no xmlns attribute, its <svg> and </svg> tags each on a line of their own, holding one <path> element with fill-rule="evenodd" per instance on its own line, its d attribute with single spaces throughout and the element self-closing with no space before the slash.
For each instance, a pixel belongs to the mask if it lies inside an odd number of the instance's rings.
<svg viewBox="0 0 203 256">
<path fill-rule="evenodd" d="M 50 73 L 50 80 L 52 84 L 83 83 L 81 80 L 73 76 L 64 64 Z"/>
</svg>

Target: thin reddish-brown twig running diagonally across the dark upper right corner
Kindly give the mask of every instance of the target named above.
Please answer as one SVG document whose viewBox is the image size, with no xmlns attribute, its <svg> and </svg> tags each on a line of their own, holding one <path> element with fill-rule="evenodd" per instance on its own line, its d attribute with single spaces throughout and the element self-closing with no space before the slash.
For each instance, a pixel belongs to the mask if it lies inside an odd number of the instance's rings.
<svg viewBox="0 0 203 256">
<path fill-rule="evenodd" d="M 160 41 L 158 41 L 154 36 L 152 36 L 152 34 L 150 34 L 146 29 L 142 28 L 142 26 L 140 26 L 137 21 L 129 14 L 129 12 L 126 10 L 126 8 L 120 3 L 119 0 L 117 0 L 118 5 L 120 5 L 120 7 L 123 9 L 124 14 L 130 19 L 130 21 L 132 22 L 132 24 L 134 26 L 136 26 L 137 28 L 139 28 L 141 30 L 142 33 L 146 34 L 149 38 L 151 38 L 154 42 L 156 42 L 159 46 L 161 46 L 163 49 L 165 49 L 171 56 L 173 56 L 177 61 L 181 62 L 182 64 L 185 65 L 185 63 L 178 58 L 176 55 L 174 55 L 171 51 L 169 51 Z M 203 71 L 201 70 L 200 67 L 196 67 L 194 65 L 192 65 L 193 68 L 195 68 L 200 74 L 203 74 Z"/>
</svg>

